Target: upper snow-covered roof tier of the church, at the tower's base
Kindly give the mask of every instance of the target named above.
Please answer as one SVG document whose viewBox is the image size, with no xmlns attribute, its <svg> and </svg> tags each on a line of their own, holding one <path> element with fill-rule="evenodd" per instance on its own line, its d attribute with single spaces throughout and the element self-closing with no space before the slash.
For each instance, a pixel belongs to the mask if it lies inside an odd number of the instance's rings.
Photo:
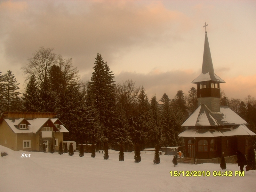
<svg viewBox="0 0 256 192">
<path fill-rule="evenodd" d="M 246 125 L 242 117 L 227 106 L 220 106 L 220 112 L 212 112 L 206 105 L 200 105 L 181 126 Z"/>
</svg>

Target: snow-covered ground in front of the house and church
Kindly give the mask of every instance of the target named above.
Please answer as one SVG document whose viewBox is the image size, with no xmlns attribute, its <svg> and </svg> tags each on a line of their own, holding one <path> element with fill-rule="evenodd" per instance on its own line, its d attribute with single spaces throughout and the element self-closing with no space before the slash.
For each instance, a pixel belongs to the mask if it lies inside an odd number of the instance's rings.
<svg viewBox="0 0 256 192">
<path fill-rule="evenodd" d="M 161 156 L 161 163 L 154 165 L 153 152 L 141 152 L 141 162 L 134 163 L 134 153 L 125 153 L 124 162 L 119 162 L 118 152 L 109 150 L 109 159 L 104 154 L 84 153 L 79 157 L 58 153 L 29 152 L 29 158 L 21 158 L 24 151 L 12 151 L 0 146 L 0 191 L 255 191 L 256 171 L 245 171 L 244 177 L 235 176 L 237 164 L 227 164 L 232 177 L 216 176 L 219 164 L 172 164 L 172 156 Z M 210 171 L 211 176 L 174 177 L 170 171 Z"/>
</svg>

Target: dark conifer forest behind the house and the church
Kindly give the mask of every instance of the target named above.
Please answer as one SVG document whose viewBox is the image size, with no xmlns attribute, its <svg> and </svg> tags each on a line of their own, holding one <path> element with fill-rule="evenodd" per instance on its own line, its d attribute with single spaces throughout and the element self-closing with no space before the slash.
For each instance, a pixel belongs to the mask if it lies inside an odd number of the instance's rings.
<svg viewBox="0 0 256 192">
<path fill-rule="evenodd" d="M 22 93 L 12 71 L 0 71 L 1 113 L 54 112 L 69 131 L 64 140 L 95 143 L 101 150 L 104 146 L 114 150 L 121 146 L 128 152 L 184 145 L 178 137 L 185 129 L 181 124 L 198 107 L 195 87 L 188 93 L 177 90 L 174 98 L 165 93 L 148 98 L 143 85 L 136 86 L 132 79 L 116 84 L 100 53 L 88 82 L 80 80 L 72 59 L 56 55 L 51 48 L 33 53 L 22 70 L 27 78 Z M 256 132 L 255 98 L 230 99 L 222 90 L 220 105 L 229 106 Z M 255 137 L 250 142 L 256 147 Z"/>
</svg>

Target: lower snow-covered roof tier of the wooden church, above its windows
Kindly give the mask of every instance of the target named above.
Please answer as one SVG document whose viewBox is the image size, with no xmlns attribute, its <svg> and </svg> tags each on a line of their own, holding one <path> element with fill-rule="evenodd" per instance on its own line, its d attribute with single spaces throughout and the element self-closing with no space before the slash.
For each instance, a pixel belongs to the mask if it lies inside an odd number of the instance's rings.
<svg viewBox="0 0 256 192">
<path fill-rule="evenodd" d="M 236 135 L 256 135 L 246 125 L 235 125 L 223 129 L 188 129 L 179 134 L 179 137 L 225 137 Z"/>
</svg>

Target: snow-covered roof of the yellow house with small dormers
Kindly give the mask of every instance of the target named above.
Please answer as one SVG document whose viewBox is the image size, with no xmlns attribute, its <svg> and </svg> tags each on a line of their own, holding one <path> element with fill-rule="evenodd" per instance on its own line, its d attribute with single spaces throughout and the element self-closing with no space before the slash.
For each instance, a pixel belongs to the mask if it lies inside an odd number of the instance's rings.
<svg viewBox="0 0 256 192">
<path fill-rule="evenodd" d="M 19 129 L 17 125 L 24 119 L 28 122 L 27 127 L 26 129 Z M 4 121 L 9 125 L 14 133 L 36 133 L 49 119 L 50 118 L 4 118 Z M 55 128 L 55 130 L 58 130 L 59 132 L 68 132 L 63 125 L 60 125 L 60 129 L 56 126 Z"/>
</svg>

